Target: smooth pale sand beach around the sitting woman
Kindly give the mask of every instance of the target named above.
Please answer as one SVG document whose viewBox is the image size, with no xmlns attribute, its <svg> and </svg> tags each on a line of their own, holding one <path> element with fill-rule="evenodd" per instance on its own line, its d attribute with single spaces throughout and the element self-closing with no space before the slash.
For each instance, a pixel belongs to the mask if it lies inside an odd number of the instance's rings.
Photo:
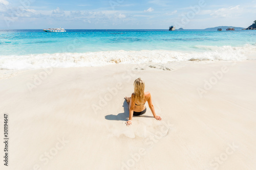
<svg viewBox="0 0 256 170">
<path fill-rule="evenodd" d="M 255 66 L 112 64 L 1 79 L 2 139 L 4 113 L 9 125 L 1 169 L 256 169 Z M 127 127 L 123 98 L 139 77 L 162 120 L 146 104 Z"/>
</svg>

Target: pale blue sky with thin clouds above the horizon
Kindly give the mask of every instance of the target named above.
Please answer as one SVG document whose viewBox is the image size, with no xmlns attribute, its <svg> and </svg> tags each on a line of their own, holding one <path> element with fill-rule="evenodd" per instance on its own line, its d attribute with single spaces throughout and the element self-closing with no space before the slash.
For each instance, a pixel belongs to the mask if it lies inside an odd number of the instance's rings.
<svg viewBox="0 0 256 170">
<path fill-rule="evenodd" d="M 0 0 L 0 29 L 205 29 L 248 27 L 256 0 Z"/>
</svg>

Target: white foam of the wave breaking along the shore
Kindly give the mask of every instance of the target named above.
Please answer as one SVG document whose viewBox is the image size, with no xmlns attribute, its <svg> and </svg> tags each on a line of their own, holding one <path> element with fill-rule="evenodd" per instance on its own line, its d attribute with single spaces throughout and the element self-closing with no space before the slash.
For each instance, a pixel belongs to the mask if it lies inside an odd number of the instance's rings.
<svg viewBox="0 0 256 170">
<path fill-rule="evenodd" d="M 247 53 L 256 54 L 255 45 L 195 46 L 202 52 L 142 50 L 142 51 L 102 51 L 91 53 L 54 53 L 21 56 L 0 56 L 1 69 L 27 70 L 47 67 L 102 66 L 117 63 L 167 63 L 179 61 L 246 60 Z"/>
</svg>

